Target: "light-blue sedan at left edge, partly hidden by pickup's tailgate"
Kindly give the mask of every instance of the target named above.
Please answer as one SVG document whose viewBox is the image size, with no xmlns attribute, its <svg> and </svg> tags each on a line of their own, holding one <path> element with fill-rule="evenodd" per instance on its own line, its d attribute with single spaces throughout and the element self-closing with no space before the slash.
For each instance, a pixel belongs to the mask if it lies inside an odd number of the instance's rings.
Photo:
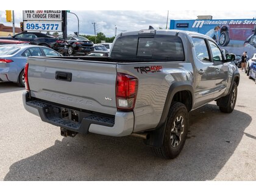
<svg viewBox="0 0 256 192">
<path fill-rule="evenodd" d="M 31 44 L 0 45 L 0 82 L 24 87 L 24 66 L 29 56 L 62 56 L 51 48 Z"/>
</svg>

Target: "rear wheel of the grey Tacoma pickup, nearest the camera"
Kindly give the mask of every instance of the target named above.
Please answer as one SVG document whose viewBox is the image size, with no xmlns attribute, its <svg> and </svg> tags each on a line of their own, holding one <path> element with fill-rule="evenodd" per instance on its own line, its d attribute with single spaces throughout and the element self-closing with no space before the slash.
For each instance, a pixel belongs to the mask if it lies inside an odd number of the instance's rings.
<svg viewBox="0 0 256 192">
<path fill-rule="evenodd" d="M 152 151 L 162 158 L 175 158 L 180 154 L 188 134 L 188 110 L 184 104 L 173 102 L 168 113 L 165 136 L 160 148 Z"/>
</svg>

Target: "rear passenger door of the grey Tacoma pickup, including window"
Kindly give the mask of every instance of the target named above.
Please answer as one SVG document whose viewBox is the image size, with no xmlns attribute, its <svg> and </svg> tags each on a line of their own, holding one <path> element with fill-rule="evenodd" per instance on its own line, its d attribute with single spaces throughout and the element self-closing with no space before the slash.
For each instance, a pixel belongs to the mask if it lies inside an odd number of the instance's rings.
<svg viewBox="0 0 256 192">
<path fill-rule="evenodd" d="M 212 101 L 215 92 L 215 66 L 210 60 L 210 51 L 207 40 L 202 37 L 193 37 L 194 63 L 196 65 L 196 104 L 200 107 Z"/>
</svg>

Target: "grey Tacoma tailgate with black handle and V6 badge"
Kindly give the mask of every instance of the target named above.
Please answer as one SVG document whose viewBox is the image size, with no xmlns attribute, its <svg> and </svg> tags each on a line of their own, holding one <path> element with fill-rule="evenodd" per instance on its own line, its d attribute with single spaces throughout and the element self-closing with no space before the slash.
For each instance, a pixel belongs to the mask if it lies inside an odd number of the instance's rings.
<svg viewBox="0 0 256 192">
<path fill-rule="evenodd" d="M 115 115 L 115 63 L 46 57 L 27 62 L 32 97 Z"/>
</svg>

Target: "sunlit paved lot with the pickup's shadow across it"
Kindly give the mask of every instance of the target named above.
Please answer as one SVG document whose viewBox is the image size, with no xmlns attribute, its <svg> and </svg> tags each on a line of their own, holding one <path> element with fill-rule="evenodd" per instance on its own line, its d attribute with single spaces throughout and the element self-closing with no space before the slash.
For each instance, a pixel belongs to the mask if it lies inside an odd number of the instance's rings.
<svg viewBox="0 0 256 192">
<path fill-rule="evenodd" d="M 212 102 L 190 112 L 185 146 L 174 160 L 143 140 L 60 136 L 26 112 L 24 88 L 0 84 L 0 180 L 256 180 L 256 85 L 241 73 L 233 113 Z"/>
</svg>

